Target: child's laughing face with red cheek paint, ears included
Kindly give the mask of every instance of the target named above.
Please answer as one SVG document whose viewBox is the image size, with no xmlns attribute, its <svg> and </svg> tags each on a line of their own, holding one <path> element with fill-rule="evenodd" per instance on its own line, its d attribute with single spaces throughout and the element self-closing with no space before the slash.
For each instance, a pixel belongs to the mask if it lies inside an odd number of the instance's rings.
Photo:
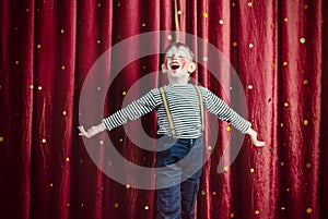
<svg viewBox="0 0 328 219">
<path fill-rule="evenodd" d="M 165 54 L 162 71 L 172 77 L 187 77 L 196 70 L 196 63 L 185 47 L 172 47 Z"/>
</svg>

